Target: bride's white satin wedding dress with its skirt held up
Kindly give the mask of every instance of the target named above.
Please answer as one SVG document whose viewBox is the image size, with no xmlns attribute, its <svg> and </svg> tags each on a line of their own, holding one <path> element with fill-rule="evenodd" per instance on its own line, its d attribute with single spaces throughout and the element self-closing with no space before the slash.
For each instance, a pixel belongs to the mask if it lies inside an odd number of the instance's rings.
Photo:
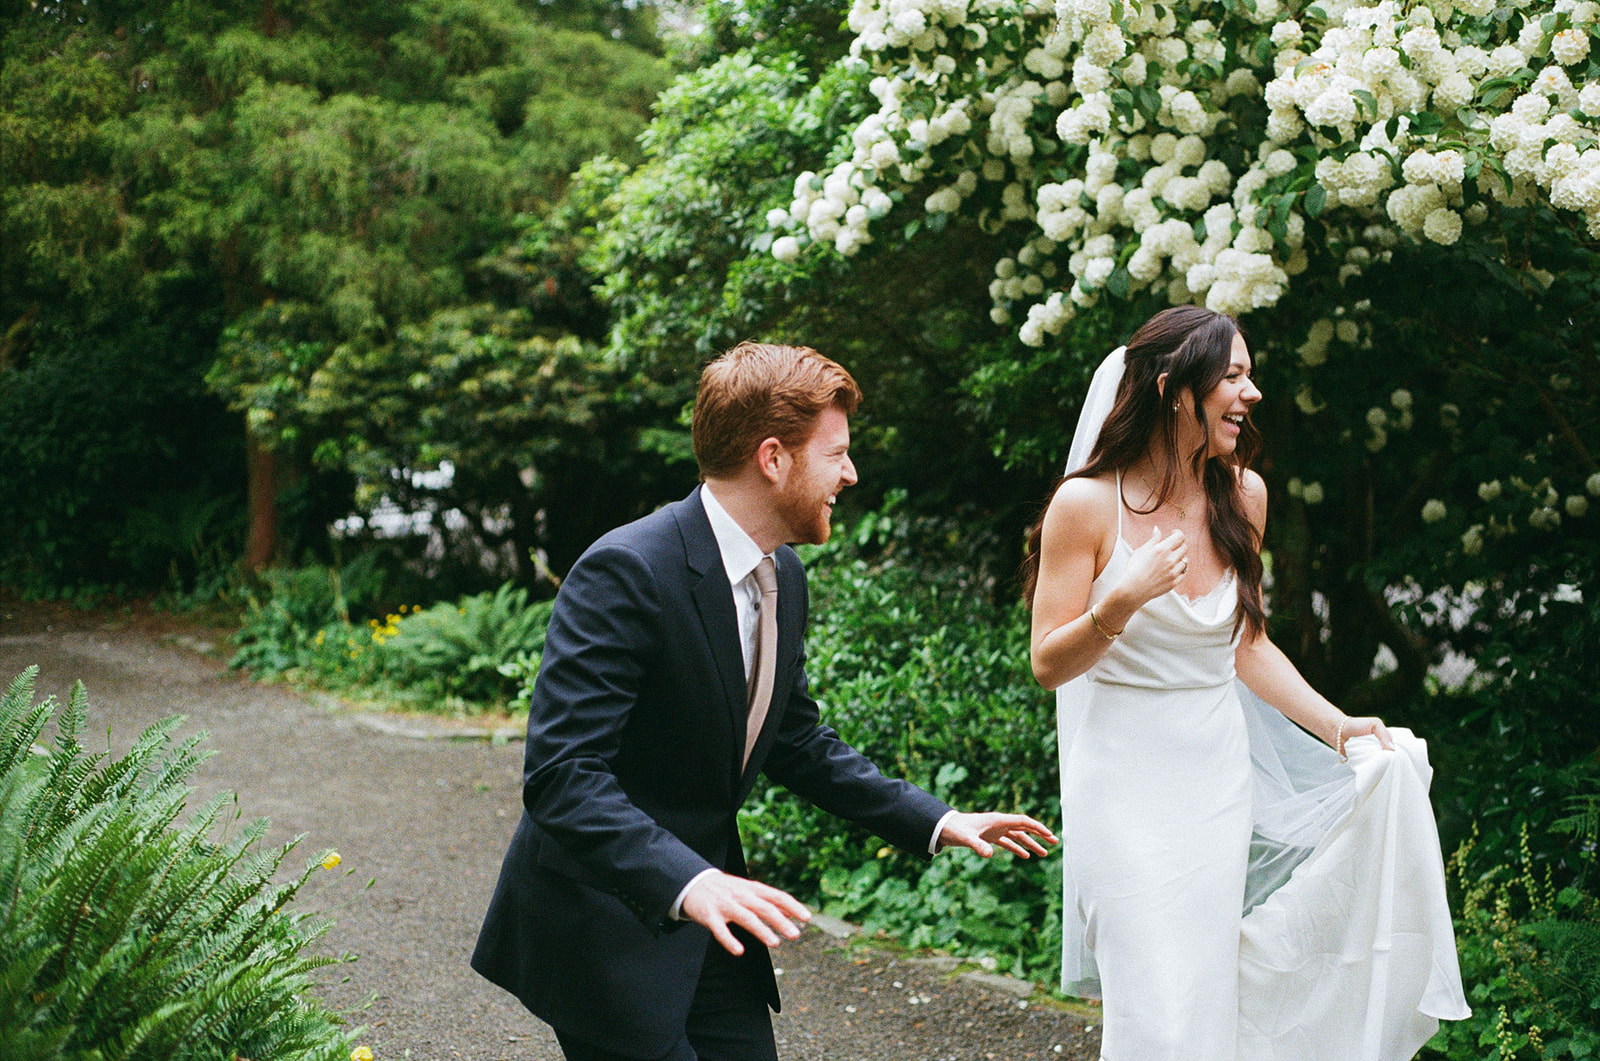
<svg viewBox="0 0 1600 1061">
<path fill-rule="evenodd" d="M 1091 605 L 1130 554 L 1118 506 Z M 1062 688 L 1062 987 L 1104 1061 L 1405 1061 L 1469 1013 L 1426 746 L 1341 763 L 1254 701 L 1237 607 L 1168 592 Z"/>
</svg>

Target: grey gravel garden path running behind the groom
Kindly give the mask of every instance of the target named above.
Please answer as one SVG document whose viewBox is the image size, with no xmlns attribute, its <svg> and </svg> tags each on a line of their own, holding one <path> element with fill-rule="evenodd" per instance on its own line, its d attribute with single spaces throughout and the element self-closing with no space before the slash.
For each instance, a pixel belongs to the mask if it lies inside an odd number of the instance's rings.
<svg viewBox="0 0 1600 1061">
<path fill-rule="evenodd" d="M 82 680 L 86 747 L 122 751 L 146 725 L 182 714 L 182 733 L 205 730 L 216 752 L 195 775 L 198 797 L 237 792 L 243 819 L 272 821 L 269 842 L 306 834 L 294 864 L 339 851 L 341 869 L 318 874 L 301 904 L 333 917 L 328 947 L 358 955 L 331 970 L 325 997 L 368 1027 L 362 1042 L 378 1061 L 558 1061 L 549 1029 L 467 968 L 518 815 L 520 741 L 251 683 L 219 663 L 219 642 L 144 611 L 0 599 L 0 680 L 38 664 L 38 695 L 61 699 Z M 955 976 L 938 957 L 846 946 L 813 928 L 774 960 L 784 1061 L 1098 1056 L 1083 1018 Z"/>
</svg>

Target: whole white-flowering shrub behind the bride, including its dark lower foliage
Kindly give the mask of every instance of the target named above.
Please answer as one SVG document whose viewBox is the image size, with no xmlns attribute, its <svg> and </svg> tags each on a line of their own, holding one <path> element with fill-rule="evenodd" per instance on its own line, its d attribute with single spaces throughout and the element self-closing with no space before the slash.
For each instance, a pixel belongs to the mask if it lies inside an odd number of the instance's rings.
<svg viewBox="0 0 1600 1061">
<path fill-rule="evenodd" d="M 1386 576 L 1589 536 L 1600 379 L 1563 365 L 1600 298 L 1600 3 L 854 0 L 848 24 L 866 114 L 770 213 L 778 259 L 976 224 L 992 322 L 1040 350 L 979 390 L 1037 392 L 1042 363 L 1072 386 L 1088 334 L 1160 304 L 1245 318 L 1258 368 L 1291 355 L 1262 376 L 1286 496 L 1403 504 Z M 1493 478 L 1530 488 L 1474 498 Z M 1370 565 L 1374 535 L 1333 523 L 1301 559 Z"/>
</svg>

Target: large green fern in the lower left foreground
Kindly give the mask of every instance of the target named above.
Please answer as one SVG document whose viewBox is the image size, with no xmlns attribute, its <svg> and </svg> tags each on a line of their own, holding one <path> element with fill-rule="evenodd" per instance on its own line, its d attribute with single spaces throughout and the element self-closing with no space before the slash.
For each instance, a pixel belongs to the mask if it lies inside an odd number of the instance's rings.
<svg viewBox="0 0 1600 1061">
<path fill-rule="evenodd" d="M 200 738 L 174 744 L 168 719 L 120 759 L 85 754 L 83 687 L 35 704 L 34 674 L 0 698 L 0 1056 L 346 1058 L 310 979 L 341 959 L 306 954 L 325 925 L 285 911 L 322 863 L 274 880 L 294 842 L 256 850 L 266 821 L 232 829 L 227 794 L 174 824 Z"/>
</svg>

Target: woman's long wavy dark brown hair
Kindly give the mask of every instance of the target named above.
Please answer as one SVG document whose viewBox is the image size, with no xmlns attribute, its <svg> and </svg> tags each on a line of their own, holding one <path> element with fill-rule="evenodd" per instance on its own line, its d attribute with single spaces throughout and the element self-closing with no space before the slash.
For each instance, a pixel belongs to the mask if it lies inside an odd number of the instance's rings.
<svg viewBox="0 0 1600 1061">
<path fill-rule="evenodd" d="M 1154 443 L 1166 454 L 1166 475 L 1155 493 L 1150 512 L 1158 509 L 1178 486 L 1179 461 L 1187 461 L 1200 477 L 1206 494 L 1211 541 L 1227 557 L 1238 579 L 1238 618 L 1234 629 L 1246 629 L 1251 637 L 1267 626 L 1261 605 L 1261 535 L 1245 512 L 1243 470 L 1261 453 L 1261 432 L 1245 418 L 1238 445 L 1229 456 L 1206 458 L 1206 446 L 1189 454 L 1178 451 L 1178 416 L 1173 402 L 1189 390 L 1194 395 L 1194 418 L 1205 438 L 1211 437 L 1202 400 L 1216 389 L 1234 360 L 1234 336 L 1242 334 L 1238 322 L 1198 306 L 1174 306 L 1150 317 L 1128 339 L 1126 368 L 1117 384 L 1117 400 L 1090 462 L 1062 477 L 1093 478 L 1106 472 L 1131 467 Z M 1157 384 L 1166 373 L 1166 390 Z M 1051 490 L 1051 498 L 1054 498 Z M 1118 498 L 1118 504 L 1123 501 Z M 1046 504 L 1048 509 L 1048 504 Z M 1038 547 L 1045 517 L 1029 531 L 1027 555 L 1022 560 L 1022 594 L 1032 607 L 1038 583 Z"/>
</svg>

